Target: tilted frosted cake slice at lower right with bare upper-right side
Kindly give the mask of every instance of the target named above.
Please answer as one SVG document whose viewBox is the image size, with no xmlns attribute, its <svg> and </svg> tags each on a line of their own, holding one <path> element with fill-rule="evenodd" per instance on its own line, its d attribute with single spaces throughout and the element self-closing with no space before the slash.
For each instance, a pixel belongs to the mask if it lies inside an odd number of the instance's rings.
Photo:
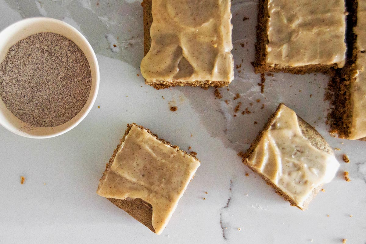
<svg viewBox="0 0 366 244">
<path fill-rule="evenodd" d="M 302 210 L 339 167 L 324 138 L 284 104 L 259 132 L 243 163 Z"/>
</svg>

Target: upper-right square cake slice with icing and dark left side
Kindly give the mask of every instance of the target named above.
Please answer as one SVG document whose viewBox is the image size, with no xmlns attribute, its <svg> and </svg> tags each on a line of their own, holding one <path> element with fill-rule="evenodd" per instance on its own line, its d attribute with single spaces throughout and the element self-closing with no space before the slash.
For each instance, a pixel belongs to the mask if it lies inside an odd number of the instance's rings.
<svg viewBox="0 0 366 244">
<path fill-rule="evenodd" d="M 344 0 L 259 0 L 256 73 L 329 72 L 346 61 Z"/>
</svg>

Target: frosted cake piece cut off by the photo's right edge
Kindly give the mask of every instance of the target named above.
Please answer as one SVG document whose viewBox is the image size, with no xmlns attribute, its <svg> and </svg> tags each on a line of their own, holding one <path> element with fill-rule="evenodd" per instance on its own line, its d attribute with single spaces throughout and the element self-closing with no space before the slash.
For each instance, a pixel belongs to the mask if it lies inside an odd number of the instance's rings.
<svg viewBox="0 0 366 244">
<path fill-rule="evenodd" d="M 366 140 L 366 1 L 350 0 L 347 10 L 348 60 L 332 79 L 332 133 L 339 138 Z"/>
</svg>

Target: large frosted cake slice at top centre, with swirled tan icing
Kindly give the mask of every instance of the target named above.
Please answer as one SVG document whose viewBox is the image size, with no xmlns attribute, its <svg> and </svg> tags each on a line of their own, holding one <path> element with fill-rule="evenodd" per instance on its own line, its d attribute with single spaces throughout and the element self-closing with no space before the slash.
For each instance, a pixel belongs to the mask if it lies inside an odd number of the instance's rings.
<svg viewBox="0 0 366 244">
<path fill-rule="evenodd" d="M 144 0 L 147 85 L 223 87 L 234 79 L 230 0 Z"/>
</svg>

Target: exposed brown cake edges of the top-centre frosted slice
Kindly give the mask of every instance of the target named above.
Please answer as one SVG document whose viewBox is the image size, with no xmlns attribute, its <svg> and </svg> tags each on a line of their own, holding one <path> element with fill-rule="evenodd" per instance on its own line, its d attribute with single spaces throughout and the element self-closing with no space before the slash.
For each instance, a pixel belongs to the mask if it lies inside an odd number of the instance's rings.
<svg viewBox="0 0 366 244">
<path fill-rule="evenodd" d="M 146 55 L 151 46 L 151 36 L 150 36 L 150 27 L 153 23 L 153 16 L 152 16 L 152 0 L 143 0 L 141 3 L 143 7 L 143 46 L 144 46 L 144 55 Z M 171 86 L 201 86 L 203 88 L 209 88 L 210 86 L 213 87 L 224 87 L 228 86 L 230 82 L 225 81 L 212 81 L 212 80 L 197 80 L 194 82 L 182 82 L 182 81 L 165 81 L 159 80 L 155 82 L 147 82 L 145 83 L 149 86 L 154 87 L 157 90 L 165 89 Z"/>
</svg>

